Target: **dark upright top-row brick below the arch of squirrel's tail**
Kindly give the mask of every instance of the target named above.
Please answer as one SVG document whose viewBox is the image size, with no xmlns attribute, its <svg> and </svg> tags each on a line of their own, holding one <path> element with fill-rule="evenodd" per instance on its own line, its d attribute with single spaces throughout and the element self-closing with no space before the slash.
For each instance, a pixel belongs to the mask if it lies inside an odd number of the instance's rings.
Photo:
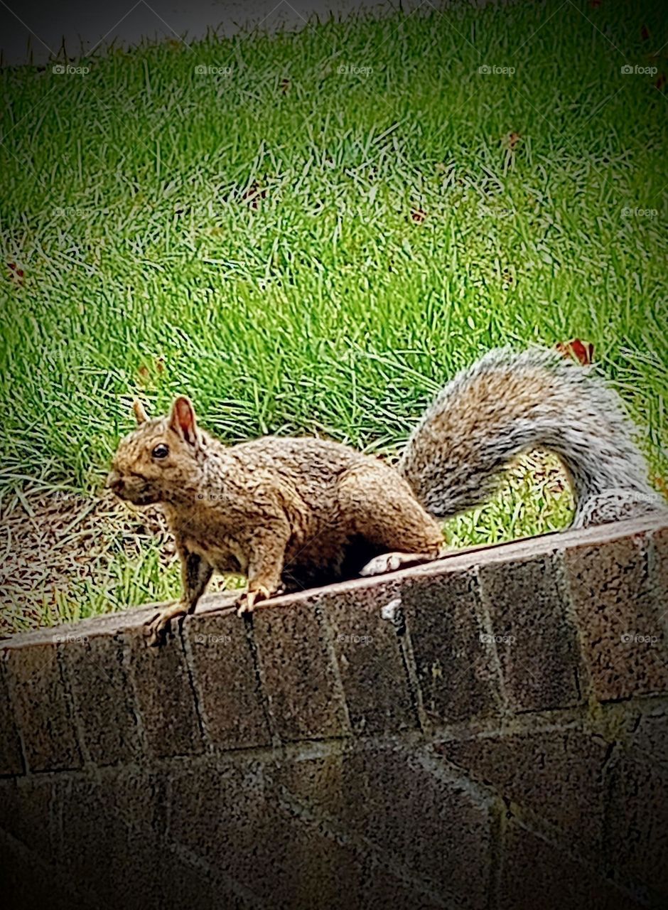
<svg viewBox="0 0 668 910">
<path fill-rule="evenodd" d="M 510 706 L 541 711 L 577 704 L 580 652 L 559 555 L 482 563 L 479 577 Z"/>
</svg>

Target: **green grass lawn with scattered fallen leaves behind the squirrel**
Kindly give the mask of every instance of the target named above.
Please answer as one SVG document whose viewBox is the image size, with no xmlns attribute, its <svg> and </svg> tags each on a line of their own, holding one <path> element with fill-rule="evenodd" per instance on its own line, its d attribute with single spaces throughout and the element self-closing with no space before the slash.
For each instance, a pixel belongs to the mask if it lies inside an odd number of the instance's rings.
<svg viewBox="0 0 668 910">
<path fill-rule="evenodd" d="M 487 349 L 580 337 L 661 485 L 667 31 L 658 2 L 423 5 L 3 70 L 9 627 L 176 591 L 126 507 L 96 571 L 21 568 L 46 564 L 26 521 L 57 546 L 96 508 L 137 395 L 158 413 L 187 393 L 229 443 L 391 454 Z M 570 514 L 541 461 L 448 530 L 462 546 Z"/>
</svg>

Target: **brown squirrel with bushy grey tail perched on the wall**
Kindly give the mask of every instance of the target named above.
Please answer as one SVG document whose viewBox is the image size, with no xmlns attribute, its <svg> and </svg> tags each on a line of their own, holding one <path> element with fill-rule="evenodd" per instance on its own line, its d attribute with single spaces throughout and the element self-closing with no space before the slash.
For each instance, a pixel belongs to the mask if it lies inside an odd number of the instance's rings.
<svg viewBox="0 0 668 910">
<path fill-rule="evenodd" d="M 149 624 L 149 643 L 182 622 L 214 571 L 248 576 L 238 612 L 280 591 L 392 571 L 444 552 L 437 519 L 485 501 L 501 471 L 540 446 L 562 460 L 573 524 L 665 508 L 647 479 L 621 399 L 553 350 L 492 350 L 440 392 L 392 467 L 337 442 L 268 436 L 225 446 L 187 398 L 121 440 L 107 486 L 160 502 L 183 593 Z"/>
</svg>

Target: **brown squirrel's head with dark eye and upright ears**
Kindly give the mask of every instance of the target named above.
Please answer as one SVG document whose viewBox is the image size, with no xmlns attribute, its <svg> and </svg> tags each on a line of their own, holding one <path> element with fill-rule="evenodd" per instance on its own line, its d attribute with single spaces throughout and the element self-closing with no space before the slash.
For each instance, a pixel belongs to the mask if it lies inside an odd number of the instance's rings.
<svg viewBox="0 0 668 910">
<path fill-rule="evenodd" d="M 135 402 L 137 430 L 118 444 L 106 487 L 122 500 L 146 506 L 182 499 L 197 484 L 201 436 L 187 398 L 177 398 L 168 417 L 148 420 Z"/>
</svg>

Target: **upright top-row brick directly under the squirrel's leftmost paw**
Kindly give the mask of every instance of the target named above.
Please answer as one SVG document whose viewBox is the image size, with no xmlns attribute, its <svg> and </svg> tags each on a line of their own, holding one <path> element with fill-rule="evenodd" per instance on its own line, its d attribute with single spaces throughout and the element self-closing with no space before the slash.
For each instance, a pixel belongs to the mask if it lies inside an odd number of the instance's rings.
<svg viewBox="0 0 668 910">
<path fill-rule="evenodd" d="M 141 627 L 127 630 L 126 636 L 149 752 L 158 758 L 201 753 L 204 743 L 180 636 L 159 648 L 147 647 Z"/>
</svg>

